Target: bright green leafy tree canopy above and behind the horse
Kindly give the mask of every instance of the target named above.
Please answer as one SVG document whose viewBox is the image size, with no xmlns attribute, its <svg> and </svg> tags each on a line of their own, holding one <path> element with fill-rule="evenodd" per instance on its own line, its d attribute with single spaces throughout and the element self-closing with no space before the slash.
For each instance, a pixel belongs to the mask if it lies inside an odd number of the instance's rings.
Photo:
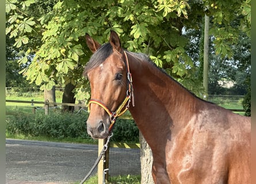
<svg viewBox="0 0 256 184">
<path fill-rule="evenodd" d="M 189 53 L 194 40 L 186 33 L 200 29 L 207 14 L 216 54 L 231 58 L 239 33 L 250 35 L 250 2 L 6 0 L 6 34 L 15 39 L 14 47 L 22 47 L 19 64 L 26 67 L 20 72 L 41 89 L 70 82 L 87 89 L 82 71 L 91 53 L 85 34 L 105 43 L 112 29 L 124 48 L 146 53 L 176 79 L 192 82 L 187 87 L 196 90 L 198 60 Z"/>
</svg>

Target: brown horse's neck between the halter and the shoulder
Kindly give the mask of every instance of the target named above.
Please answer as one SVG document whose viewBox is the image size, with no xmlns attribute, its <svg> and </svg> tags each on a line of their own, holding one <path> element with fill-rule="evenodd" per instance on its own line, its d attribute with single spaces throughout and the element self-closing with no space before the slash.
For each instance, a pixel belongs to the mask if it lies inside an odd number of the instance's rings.
<svg viewBox="0 0 256 184">
<path fill-rule="evenodd" d="M 131 53 L 128 59 L 135 98 L 135 106 L 130 105 L 129 111 L 148 144 L 153 135 L 169 139 L 186 126 L 199 100 L 150 62 Z"/>
</svg>

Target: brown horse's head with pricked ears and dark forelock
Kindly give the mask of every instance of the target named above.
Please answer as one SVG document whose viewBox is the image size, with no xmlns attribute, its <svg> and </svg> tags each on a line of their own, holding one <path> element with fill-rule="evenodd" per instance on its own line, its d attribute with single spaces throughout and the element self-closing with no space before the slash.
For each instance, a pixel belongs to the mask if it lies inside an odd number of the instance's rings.
<svg viewBox="0 0 256 184">
<path fill-rule="evenodd" d="M 116 112 L 122 112 L 129 103 L 129 98 L 124 102 L 129 86 L 127 56 L 114 31 L 110 33 L 109 43 L 101 45 L 89 35 L 86 35 L 86 43 L 93 52 L 84 71 L 91 87 L 87 132 L 94 139 L 104 139 L 118 116 Z M 120 107 L 120 104 L 124 105 Z"/>
</svg>

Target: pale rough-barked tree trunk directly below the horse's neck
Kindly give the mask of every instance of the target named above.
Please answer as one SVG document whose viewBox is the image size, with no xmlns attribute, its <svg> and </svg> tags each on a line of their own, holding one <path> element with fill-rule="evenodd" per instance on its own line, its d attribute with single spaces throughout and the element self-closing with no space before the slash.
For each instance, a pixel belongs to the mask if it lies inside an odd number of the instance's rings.
<svg viewBox="0 0 256 184">
<path fill-rule="evenodd" d="M 142 133 L 140 133 L 140 173 L 142 174 L 141 184 L 154 184 L 152 178 L 153 156 L 150 146 L 147 144 Z"/>
</svg>

